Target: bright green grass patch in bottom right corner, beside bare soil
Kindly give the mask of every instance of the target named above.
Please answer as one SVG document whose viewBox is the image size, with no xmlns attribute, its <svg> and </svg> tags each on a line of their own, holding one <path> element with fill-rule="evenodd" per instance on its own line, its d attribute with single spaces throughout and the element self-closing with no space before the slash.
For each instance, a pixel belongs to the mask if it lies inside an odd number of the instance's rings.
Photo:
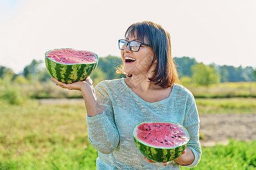
<svg viewBox="0 0 256 170">
<path fill-rule="evenodd" d="M 256 141 L 242 142 L 230 139 L 229 145 L 202 148 L 200 163 L 192 169 L 233 170 L 256 169 Z M 181 167 L 181 170 L 189 168 Z"/>
</svg>

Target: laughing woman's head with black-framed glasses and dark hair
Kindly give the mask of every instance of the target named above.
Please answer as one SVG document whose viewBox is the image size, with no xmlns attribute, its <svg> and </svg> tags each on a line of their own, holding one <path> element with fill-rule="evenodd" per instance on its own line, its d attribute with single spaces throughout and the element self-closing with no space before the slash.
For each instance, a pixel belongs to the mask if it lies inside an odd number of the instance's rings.
<svg viewBox="0 0 256 170">
<path fill-rule="evenodd" d="M 154 73 L 150 73 L 152 75 L 149 76 L 149 80 L 155 82 L 155 84 L 159 84 L 160 87 L 170 87 L 172 83 L 179 83 L 176 65 L 171 56 L 169 33 L 161 25 L 149 22 L 145 22 L 145 25 L 139 23 L 131 25 L 125 33 L 126 40 L 118 41 L 119 49 L 122 50 L 121 55 L 124 65 L 117 69 L 117 73 L 131 77 L 134 73 L 137 74 L 138 71 L 144 74 L 144 71 L 139 69 L 140 67 L 148 71 L 153 66 L 152 71 Z M 148 33 L 151 30 L 154 30 L 154 33 Z M 128 44 L 129 48 L 127 48 Z M 135 54 L 141 57 L 135 57 Z M 143 61 L 140 62 L 139 59 Z M 134 63 L 133 67 L 127 65 L 131 62 Z M 127 67 L 130 67 L 132 72 L 129 73 Z"/>
</svg>

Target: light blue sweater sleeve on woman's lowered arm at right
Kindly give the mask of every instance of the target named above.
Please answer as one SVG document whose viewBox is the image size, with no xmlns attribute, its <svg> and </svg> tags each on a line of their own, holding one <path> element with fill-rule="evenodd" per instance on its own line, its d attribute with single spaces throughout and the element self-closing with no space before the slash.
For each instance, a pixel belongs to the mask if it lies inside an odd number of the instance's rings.
<svg viewBox="0 0 256 170">
<path fill-rule="evenodd" d="M 195 98 L 192 96 L 192 104 L 190 104 L 190 107 L 188 107 L 186 111 L 183 125 L 189 133 L 189 142 L 187 147 L 189 147 L 195 155 L 195 160 L 192 164 L 183 165 L 183 167 L 193 168 L 200 162 L 201 146 L 199 141 L 199 123 L 199 113 L 197 111 Z"/>
</svg>

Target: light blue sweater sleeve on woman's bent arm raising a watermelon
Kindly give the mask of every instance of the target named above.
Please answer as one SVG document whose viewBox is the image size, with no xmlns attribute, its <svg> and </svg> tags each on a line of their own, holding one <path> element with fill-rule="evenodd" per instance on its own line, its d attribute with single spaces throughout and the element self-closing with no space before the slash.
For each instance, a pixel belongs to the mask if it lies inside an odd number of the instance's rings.
<svg viewBox="0 0 256 170">
<path fill-rule="evenodd" d="M 112 101 L 103 85 L 95 88 L 98 104 L 103 113 L 97 116 L 86 116 L 88 138 L 96 150 L 102 154 L 112 153 L 119 143 L 119 134 L 115 126 Z"/>
</svg>

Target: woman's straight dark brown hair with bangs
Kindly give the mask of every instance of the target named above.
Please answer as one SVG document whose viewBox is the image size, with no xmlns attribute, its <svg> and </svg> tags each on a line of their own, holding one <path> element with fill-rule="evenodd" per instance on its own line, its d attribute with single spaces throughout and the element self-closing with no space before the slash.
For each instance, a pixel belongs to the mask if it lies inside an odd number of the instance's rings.
<svg viewBox="0 0 256 170">
<path fill-rule="evenodd" d="M 125 32 L 125 37 L 134 36 L 137 33 L 137 39 L 144 42 L 144 37 L 147 38 L 148 44 L 154 51 L 154 61 L 156 63 L 155 75 L 148 78 L 151 82 L 155 82 L 162 88 L 171 87 L 172 84 L 179 84 L 179 76 L 177 74 L 176 63 L 171 56 L 171 37 L 170 34 L 159 24 L 144 21 L 130 25 Z M 117 68 L 117 73 L 125 74 L 127 77 L 133 75 L 126 74 L 121 68 Z"/>
</svg>

